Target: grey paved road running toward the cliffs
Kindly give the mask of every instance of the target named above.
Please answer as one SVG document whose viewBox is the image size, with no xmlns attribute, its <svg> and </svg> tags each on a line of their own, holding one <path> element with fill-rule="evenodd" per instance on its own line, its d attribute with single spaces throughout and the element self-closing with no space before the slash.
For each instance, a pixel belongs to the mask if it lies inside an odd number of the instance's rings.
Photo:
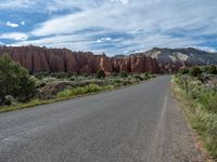
<svg viewBox="0 0 217 162">
<path fill-rule="evenodd" d="M 169 77 L 0 113 L 0 162 L 200 160 Z"/>
</svg>

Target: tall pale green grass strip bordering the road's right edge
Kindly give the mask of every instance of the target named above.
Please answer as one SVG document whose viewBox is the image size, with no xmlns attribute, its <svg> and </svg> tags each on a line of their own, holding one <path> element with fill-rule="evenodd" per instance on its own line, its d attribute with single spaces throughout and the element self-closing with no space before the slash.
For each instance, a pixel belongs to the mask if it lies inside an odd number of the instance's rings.
<svg viewBox="0 0 217 162">
<path fill-rule="evenodd" d="M 193 99 L 174 77 L 171 80 L 175 97 L 181 103 L 183 112 L 195 131 L 203 148 L 217 161 L 217 113 L 206 108 L 199 99 Z"/>
</svg>

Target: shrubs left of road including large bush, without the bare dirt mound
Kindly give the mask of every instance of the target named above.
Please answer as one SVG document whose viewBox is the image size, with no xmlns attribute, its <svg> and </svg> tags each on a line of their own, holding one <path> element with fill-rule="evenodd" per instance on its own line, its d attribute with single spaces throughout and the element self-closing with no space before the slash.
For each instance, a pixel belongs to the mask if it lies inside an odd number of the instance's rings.
<svg viewBox="0 0 217 162">
<path fill-rule="evenodd" d="M 66 90 L 60 92 L 56 97 L 66 97 L 101 90 L 114 89 L 133 84 L 152 77 L 149 73 L 128 73 L 126 71 L 113 73 L 105 78 L 104 70 L 100 69 L 95 75 L 77 75 L 67 72 L 41 71 L 30 76 L 20 64 L 13 62 L 8 55 L 0 58 L 0 105 L 15 105 L 28 102 L 30 98 L 39 98 L 44 86 L 66 82 Z M 50 90 L 48 90 L 50 91 Z M 52 90 L 51 90 L 52 91 Z M 53 90 L 55 91 L 55 90 Z"/>
</svg>

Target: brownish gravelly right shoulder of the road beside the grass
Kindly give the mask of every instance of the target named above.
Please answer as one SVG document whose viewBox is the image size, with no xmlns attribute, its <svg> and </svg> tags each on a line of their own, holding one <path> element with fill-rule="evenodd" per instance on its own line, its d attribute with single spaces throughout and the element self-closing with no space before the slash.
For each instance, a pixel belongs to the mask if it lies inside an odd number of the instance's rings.
<svg viewBox="0 0 217 162">
<path fill-rule="evenodd" d="M 179 103 L 169 91 L 165 96 L 162 116 L 150 150 L 149 161 L 205 162 L 206 156 L 196 147 L 193 132 L 189 126 Z"/>
</svg>

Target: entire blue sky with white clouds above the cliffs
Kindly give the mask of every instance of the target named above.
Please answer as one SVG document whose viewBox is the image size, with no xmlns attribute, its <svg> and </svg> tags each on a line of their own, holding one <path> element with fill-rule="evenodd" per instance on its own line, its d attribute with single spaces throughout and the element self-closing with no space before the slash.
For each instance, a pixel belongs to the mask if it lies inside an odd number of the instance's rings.
<svg viewBox="0 0 217 162">
<path fill-rule="evenodd" d="M 217 50 L 217 0 L 0 0 L 0 45 Z"/>
</svg>

